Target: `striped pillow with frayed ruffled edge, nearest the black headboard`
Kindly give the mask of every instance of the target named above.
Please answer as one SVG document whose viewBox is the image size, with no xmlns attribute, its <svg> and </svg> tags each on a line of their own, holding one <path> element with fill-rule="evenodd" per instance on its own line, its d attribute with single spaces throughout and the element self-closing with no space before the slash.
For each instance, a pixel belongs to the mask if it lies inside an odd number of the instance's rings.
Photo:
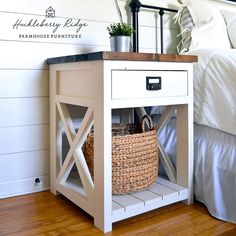
<svg viewBox="0 0 236 236">
<path fill-rule="evenodd" d="M 177 15 L 177 20 L 180 26 L 180 34 L 178 36 L 181 36 L 177 50 L 179 53 L 184 53 L 189 50 L 191 45 L 191 31 L 194 24 L 187 7 L 181 8 Z"/>
</svg>

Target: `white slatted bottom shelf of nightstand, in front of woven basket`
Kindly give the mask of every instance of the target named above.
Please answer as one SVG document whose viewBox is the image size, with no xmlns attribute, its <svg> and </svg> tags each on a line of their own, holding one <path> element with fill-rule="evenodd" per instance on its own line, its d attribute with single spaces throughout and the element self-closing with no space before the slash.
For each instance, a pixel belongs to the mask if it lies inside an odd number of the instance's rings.
<svg viewBox="0 0 236 236">
<path fill-rule="evenodd" d="M 158 177 L 149 189 L 112 196 L 112 222 L 188 199 L 188 189 Z"/>
</svg>

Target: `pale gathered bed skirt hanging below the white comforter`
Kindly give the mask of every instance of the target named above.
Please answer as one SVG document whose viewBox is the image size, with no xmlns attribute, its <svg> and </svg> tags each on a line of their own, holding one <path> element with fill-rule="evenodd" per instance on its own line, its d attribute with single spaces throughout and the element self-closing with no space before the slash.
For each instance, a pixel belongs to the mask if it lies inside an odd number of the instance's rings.
<svg viewBox="0 0 236 236">
<path fill-rule="evenodd" d="M 172 119 L 159 137 L 174 164 L 175 134 Z M 194 194 L 212 216 L 236 223 L 235 135 L 194 124 Z"/>
</svg>

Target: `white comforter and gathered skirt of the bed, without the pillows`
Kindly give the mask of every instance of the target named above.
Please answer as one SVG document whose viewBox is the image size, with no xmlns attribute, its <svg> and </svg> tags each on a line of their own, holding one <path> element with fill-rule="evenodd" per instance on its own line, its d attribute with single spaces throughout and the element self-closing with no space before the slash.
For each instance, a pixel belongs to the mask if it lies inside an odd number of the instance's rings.
<svg viewBox="0 0 236 236">
<path fill-rule="evenodd" d="M 211 215 L 236 223 L 236 50 L 194 53 L 199 56 L 194 67 L 195 199 Z M 160 137 L 173 158 L 174 127 L 170 122 Z"/>
</svg>

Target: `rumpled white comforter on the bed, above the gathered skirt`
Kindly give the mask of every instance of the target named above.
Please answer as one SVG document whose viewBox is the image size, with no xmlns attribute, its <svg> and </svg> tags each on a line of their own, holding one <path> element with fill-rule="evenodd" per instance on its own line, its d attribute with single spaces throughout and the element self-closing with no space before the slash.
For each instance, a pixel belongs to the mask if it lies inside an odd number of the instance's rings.
<svg viewBox="0 0 236 236">
<path fill-rule="evenodd" d="M 236 49 L 198 49 L 194 121 L 236 135 Z"/>
</svg>

